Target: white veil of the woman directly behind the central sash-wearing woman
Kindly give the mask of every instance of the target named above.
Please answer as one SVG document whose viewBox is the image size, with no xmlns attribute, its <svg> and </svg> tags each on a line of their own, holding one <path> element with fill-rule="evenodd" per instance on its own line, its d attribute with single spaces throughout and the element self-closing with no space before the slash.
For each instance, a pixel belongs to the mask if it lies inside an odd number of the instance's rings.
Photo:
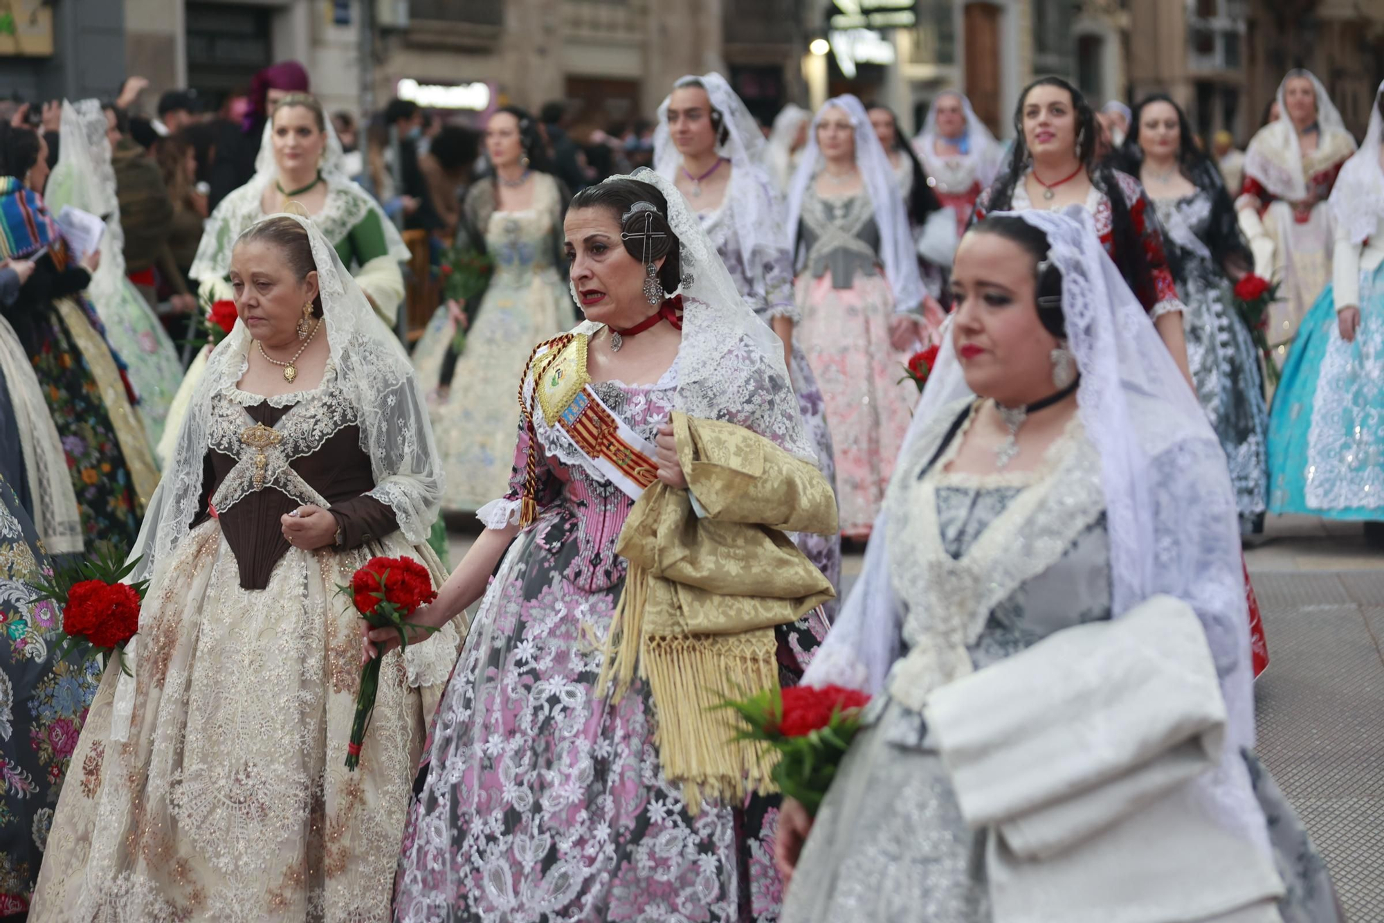
<svg viewBox="0 0 1384 923">
<path fill-rule="evenodd" d="M 688 86 L 693 80 L 706 87 L 711 108 L 721 114 L 727 130 L 725 144 L 717 144 L 717 154 L 731 161 L 731 187 L 727 190 L 727 205 L 735 222 L 735 233 L 740 241 L 740 256 L 746 266 L 754 265 L 754 251 L 783 245 L 783 231 L 779 225 L 781 208 L 775 201 L 770 177 L 760 168 L 764 155 L 764 136 L 745 103 L 735 94 L 731 85 L 720 73 L 680 78 L 673 89 Z M 659 105 L 659 128 L 653 132 L 653 169 L 670 183 L 677 180 L 682 155 L 673 144 L 668 132 L 668 101 Z"/>
</svg>

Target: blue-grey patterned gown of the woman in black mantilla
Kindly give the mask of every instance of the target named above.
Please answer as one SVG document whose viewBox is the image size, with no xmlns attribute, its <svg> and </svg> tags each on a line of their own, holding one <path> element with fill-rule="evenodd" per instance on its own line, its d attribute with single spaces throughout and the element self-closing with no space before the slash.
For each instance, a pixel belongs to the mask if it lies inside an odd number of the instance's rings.
<svg viewBox="0 0 1384 923">
<path fill-rule="evenodd" d="M 1240 510 L 1240 528 L 1262 522 L 1268 491 L 1269 410 L 1264 402 L 1259 356 L 1250 328 L 1235 306 L 1230 281 L 1211 240 L 1211 194 L 1154 200 L 1165 241 L 1178 256 L 1175 281 L 1186 312 L 1187 364 L 1197 398 L 1225 449 Z"/>
</svg>

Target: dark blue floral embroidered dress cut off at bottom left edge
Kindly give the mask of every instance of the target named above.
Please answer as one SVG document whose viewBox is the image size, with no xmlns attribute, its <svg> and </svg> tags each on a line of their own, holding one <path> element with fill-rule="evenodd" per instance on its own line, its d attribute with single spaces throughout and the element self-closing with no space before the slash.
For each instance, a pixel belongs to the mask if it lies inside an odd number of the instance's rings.
<svg viewBox="0 0 1384 923">
<path fill-rule="evenodd" d="M 98 661 L 55 657 L 58 610 L 30 586 L 53 574 L 46 543 L 0 475 L 0 919 L 24 919 L 62 779 L 72 764 Z M 80 545 L 78 547 L 80 550 Z M 78 765 L 80 771 L 80 764 Z M 73 783 L 80 784 L 80 782 Z"/>
</svg>

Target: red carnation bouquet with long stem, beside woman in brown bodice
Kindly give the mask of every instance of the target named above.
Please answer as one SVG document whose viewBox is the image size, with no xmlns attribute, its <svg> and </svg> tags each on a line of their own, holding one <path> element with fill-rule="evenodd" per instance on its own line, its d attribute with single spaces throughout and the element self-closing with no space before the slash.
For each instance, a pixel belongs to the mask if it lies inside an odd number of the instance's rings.
<svg viewBox="0 0 1384 923">
<path fill-rule="evenodd" d="M 338 588 L 349 593 L 360 617 L 371 628 L 393 628 L 399 632 L 400 650 L 408 647 L 408 628 L 404 619 L 426 603 L 437 599 L 432 588 L 428 568 L 411 557 L 372 557 L 350 578 L 350 586 Z M 424 625 L 428 633 L 437 631 Z M 375 711 L 375 696 L 379 693 L 379 662 L 383 657 L 371 658 L 360 671 L 360 692 L 356 693 L 356 719 L 350 728 L 350 743 L 346 744 L 346 768 L 360 765 L 360 748 L 365 740 L 370 717 Z"/>
</svg>

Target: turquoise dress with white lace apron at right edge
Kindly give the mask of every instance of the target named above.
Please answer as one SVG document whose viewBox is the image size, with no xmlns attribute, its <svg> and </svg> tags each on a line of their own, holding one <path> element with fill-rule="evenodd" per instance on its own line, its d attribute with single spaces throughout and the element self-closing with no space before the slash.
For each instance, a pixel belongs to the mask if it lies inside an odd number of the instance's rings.
<svg viewBox="0 0 1384 923">
<path fill-rule="evenodd" d="M 1269 510 L 1384 520 L 1384 265 L 1360 274 L 1341 338 L 1327 285 L 1302 319 L 1269 414 Z"/>
</svg>

